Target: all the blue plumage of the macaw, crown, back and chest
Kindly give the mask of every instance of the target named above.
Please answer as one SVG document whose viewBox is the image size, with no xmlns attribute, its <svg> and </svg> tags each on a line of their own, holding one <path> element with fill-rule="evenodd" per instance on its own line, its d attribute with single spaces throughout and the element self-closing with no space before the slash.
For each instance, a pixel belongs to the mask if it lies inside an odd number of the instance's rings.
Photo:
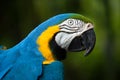
<svg viewBox="0 0 120 80">
<path fill-rule="evenodd" d="M 43 65 L 36 40 L 49 26 L 59 24 L 72 14 L 61 14 L 38 25 L 24 40 L 8 50 L 0 50 L 0 80 L 63 80 L 63 64 Z"/>
</svg>

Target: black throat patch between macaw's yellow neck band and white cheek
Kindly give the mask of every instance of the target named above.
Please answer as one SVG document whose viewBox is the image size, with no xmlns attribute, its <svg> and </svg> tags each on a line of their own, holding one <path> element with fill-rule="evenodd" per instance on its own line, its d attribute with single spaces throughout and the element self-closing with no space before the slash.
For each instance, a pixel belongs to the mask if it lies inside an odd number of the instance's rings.
<svg viewBox="0 0 120 80">
<path fill-rule="evenodd" d="M 64 60 L 66 58 L 67 51 L 65 49 L 61 48 L 60 46 L 58 46 L 58 44 L 56 43 L 56 41 L 55 41 L 56 34 L 50 40 L 49 47 L 50 47 L 55 59 Z"/>
</svg>

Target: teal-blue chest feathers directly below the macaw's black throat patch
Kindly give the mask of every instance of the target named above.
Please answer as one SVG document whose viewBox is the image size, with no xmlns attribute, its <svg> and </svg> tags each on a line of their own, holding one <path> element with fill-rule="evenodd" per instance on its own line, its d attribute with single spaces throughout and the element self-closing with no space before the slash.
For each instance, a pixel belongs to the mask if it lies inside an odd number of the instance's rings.
<svg viewBox="0 0 120 80">
<path fill-rule="evenodd" d="M 39 80 L 64 80 L 64 68 L 60 61 L 43 66 L 43 75 Z"/>
</svg>

